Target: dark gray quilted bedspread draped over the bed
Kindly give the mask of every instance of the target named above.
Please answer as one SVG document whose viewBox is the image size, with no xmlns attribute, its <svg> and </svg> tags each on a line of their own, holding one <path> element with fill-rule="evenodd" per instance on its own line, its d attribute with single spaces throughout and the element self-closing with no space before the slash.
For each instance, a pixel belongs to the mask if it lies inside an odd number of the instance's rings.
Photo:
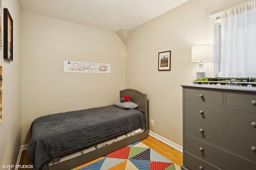
<svg viewBox="0 0 256 170">
<path fill-rule="evenodd" d="M 115 105 L 42 116 L 31 125 L 28 157 L 35 170 L 41 166 L 48 169 L 46 163 L 50 160 L 145 128 L 145 123 L 146 116 L 142 112 Z"/>
</svg>

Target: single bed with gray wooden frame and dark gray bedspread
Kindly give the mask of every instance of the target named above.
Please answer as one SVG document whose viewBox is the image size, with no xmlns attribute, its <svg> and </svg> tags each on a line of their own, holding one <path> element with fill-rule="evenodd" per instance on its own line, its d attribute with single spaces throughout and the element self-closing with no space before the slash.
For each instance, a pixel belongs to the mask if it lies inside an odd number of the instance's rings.
<svg viewBox="0 0 256 170">
<path fill-rule="evenodd" d="M 122 109 L 115 104 L 35 119 L 27 148 L 34 169 L 72 169 L 147 138 L 147 95 L 124 89 L 123 96 L 130 96 L 137 107 Z"/>
</svg>

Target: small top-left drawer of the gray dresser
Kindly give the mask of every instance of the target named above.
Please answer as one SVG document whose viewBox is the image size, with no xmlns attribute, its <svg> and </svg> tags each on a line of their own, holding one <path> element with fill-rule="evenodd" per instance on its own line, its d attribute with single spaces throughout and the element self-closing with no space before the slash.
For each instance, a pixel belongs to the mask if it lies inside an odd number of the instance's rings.
<svg viewBox="0 0 256 170">
<path fill-rule="evenodd" d="M 185 89 L 185 100 L 223 105 L 223 92 L 198 89 Z"/>
</svg>

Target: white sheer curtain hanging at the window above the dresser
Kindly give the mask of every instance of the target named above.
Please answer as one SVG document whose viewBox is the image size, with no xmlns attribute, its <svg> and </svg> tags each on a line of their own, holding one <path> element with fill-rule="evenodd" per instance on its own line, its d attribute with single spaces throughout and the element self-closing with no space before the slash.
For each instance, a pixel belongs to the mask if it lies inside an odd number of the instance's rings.
<svg viewBox="0 0 256 170">
<path fill-rule="evenodd" d="M 220 77 L 256 77 L 255 1 L 223 11 Z"/>
</svg>

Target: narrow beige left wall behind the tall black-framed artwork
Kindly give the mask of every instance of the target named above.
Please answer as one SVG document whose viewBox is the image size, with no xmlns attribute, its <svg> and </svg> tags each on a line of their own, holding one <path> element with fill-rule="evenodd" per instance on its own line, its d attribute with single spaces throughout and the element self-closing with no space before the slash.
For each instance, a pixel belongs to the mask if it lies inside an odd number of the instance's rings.
<svg viewBox="0 0 256 170">
<path fill-rule="evenodd" d="M 4 60 L 0 50 L 0 65 L 3 67 L 2 112 L 0 124 L 0 167 L 15 165 L 21 143 L 21 14 L 18 0 L 2 0 L 2 10 L 8 8 L 13 20 L 13 62 Z M 3 11 L 2 11 L 3 14 Z M 3 16 L 1 16 L 1 20 Z M 2 23 L 3 26 L 3 23 Z M 3 28 L 2 28 L 3 33 Z M 3 38 L 3 35 L 2 35 Z M 0 169 L 1 169 L 0 168 Z"/>
</svg>

